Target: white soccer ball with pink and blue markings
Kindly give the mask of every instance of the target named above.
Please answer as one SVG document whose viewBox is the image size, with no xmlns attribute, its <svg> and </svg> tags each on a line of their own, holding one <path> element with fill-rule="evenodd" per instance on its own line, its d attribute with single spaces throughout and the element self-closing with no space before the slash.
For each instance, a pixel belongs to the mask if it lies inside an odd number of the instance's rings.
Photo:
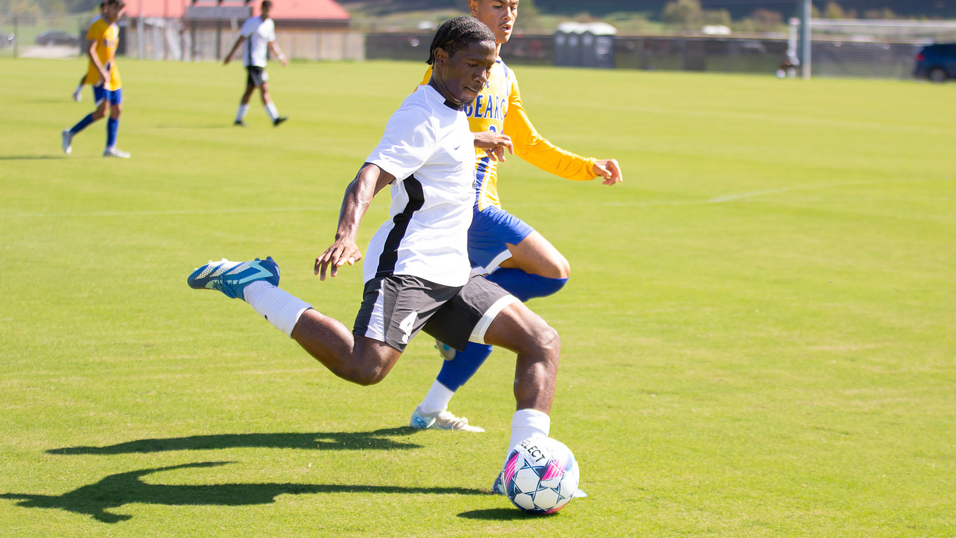
<svg viewBox="0 0 956 538">
<path fill-rule="evenodd" d="M 518 443 L 508 453 L 502 473 L 511 504 L 532 514 L 553 514 L 571 501 L 577 489 L 575 455 L 551 437 Z"/>
</svg>

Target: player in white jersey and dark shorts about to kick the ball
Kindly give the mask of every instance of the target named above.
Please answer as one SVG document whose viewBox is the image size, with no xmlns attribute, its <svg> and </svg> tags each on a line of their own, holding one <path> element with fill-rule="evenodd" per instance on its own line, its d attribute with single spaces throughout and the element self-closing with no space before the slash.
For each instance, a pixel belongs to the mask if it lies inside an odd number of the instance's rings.
<svg viewBox="0 0 956 538">
<path fill-rule="evenodd" d="M 429 50 L 433 76 L 392 114 L 345 190 L 335 242 L 315 258 L 321 280 L 327 270 L 335 277 L 339 267 L 362 258 L 359 222 L 378 191 L 390 185 L 392 194 L 390 218 L 366 249 L 353 331 L 277 287 L 272 258 L 210 261 L 187 283 L 243 299 L 326 368 L 359 385 L 380 382 L 419 330 L 459 349 L 468 341 L 511 349 L 517 353 L 511 450 L 526 438 L 549 435 L 560 343 L 554 328 L 524 303 L 470 276 L 474 147 L 500 148 L 505 137 L 479 140 L 462 107 L 488 81 L 494 41 L 474 18 L 445 22 Z"/>
</svg>

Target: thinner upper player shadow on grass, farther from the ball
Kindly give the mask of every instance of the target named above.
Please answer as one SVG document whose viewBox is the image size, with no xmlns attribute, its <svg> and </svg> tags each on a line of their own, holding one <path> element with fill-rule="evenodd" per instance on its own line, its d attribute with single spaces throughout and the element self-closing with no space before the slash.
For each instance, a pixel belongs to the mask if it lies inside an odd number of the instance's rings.
<svg viewBox="0 0 956 538">
<path fill-rule="evenodd" d="M 138 439 L 107 446 L 70 446 L 48 450 L 48 454 L 137 454 L 172 450 L 218 450 L 222 448 L 298 448 L 302 450 L 396 450 L 422 448 L 389 437 L 419 432 L 408 426 L 374 432 L 315 432 L 309 434 L 221 434 Z"/>
</svg>

